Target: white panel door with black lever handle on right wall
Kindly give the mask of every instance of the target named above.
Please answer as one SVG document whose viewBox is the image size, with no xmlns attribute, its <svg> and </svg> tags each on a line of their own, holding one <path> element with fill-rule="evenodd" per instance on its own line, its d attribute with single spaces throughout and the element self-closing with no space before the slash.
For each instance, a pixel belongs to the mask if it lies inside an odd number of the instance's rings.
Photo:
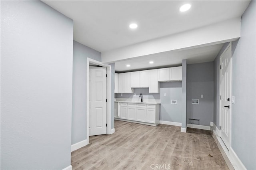
<svg viewBox="0 0 256 170">
<path fill-rule="evenodd" d="M 231 46 L 220 58 L 220 137 L 230 148 L 230 81 L 231 81 Z"/>
</svg>

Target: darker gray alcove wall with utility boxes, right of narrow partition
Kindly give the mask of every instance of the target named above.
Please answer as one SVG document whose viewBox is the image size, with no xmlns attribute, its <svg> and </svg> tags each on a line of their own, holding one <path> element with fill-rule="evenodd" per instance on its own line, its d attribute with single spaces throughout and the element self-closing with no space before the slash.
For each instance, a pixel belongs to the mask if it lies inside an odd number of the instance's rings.
<svg viewBox="0 0 256 170">
<path fill-rule="evenodd" d="M 213 121 L 213 75 L 213 62 L 188 64 L 187 123 L 188 119 L 200 119 L 200 125 L 210 126 Z M 199 104 L 192 104 L 192 99 L 199 99 Z"/>
</svg>

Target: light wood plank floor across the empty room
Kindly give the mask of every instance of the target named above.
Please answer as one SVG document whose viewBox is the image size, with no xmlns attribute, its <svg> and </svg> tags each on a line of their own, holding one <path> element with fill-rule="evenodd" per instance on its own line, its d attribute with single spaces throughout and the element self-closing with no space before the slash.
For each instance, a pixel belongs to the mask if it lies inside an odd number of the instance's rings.
<svg viewBox="0 0 256 170">
<path fill-rule="evenodd" d="M 228 169 L 208 130 L 115 121 L 115 131 L 72 152 L 73 170 Z"/>
</svg>

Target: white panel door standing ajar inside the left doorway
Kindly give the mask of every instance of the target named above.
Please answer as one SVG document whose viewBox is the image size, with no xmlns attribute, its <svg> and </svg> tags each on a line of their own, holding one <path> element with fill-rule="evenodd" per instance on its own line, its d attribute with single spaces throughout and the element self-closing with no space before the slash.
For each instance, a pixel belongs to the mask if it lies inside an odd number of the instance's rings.
<svg viewBox="0 0 256 170">
<path fill-rule="evenodd" d="M 89 136 L 106 134 L 106 68 L 90 66 Z"/>
</svg>

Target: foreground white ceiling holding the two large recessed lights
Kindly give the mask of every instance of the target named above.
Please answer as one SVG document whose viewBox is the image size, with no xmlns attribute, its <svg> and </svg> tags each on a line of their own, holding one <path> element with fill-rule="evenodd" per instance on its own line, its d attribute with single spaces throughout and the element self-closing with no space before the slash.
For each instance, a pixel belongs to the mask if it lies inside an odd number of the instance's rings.
<svg viewBox="0 0 256 170">
<path fill-rule="evenodd" d="M 74 40 L 104 52 L 240 17 L 250 1 L 189 1 L 184 13 L 186 1 L 43 2 L 74 20 Z"/>
</svg>

